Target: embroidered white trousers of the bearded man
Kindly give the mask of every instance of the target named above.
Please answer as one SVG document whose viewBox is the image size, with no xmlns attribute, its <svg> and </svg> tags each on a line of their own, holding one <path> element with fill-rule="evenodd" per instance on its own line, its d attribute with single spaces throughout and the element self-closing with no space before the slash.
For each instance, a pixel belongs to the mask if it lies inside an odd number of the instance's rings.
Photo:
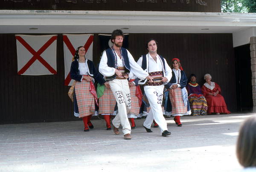
<svg viewBox="0 0 256 172">
<path fill-rule="evenodd" d="M 131 93 L 128 85 L 127 79 L 114 79 L 108 82 L 110 88 L 115 96 L 118 113 L 116 117 L 112 120 L 114 127 L 118 128 L 122 125 L 123 134 L 131 133 L 131 125 L 129 123 L 127 114 L 131 109 Z"/>
</svg>

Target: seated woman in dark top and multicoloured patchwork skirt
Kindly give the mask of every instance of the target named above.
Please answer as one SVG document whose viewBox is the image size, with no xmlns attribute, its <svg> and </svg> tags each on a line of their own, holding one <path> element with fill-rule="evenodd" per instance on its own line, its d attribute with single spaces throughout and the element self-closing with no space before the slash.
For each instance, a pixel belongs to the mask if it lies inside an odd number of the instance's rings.
<svg viewBox="0 0 256 172">
<path fill-rule="evenodd" d="M 201 91 L 200 85 L 196 83 L 195 74 L 190 75 L 190 82 L 186 85 L 189 95 L 189 104 L 191 107 L 191 115 L 205 115 L 207 112 L 207 102 Z"/>
</svg>

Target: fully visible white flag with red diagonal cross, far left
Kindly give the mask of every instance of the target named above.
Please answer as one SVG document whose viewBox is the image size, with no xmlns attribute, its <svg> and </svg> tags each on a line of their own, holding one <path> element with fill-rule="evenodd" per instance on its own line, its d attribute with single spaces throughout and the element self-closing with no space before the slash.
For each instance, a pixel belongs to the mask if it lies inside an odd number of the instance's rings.
<svg viewBox="0 0 256 172">
<path fill-rule="evenodd" d="M 15 35 L 19 75 L 57 74 L 57 35 Z"/>
</svg>

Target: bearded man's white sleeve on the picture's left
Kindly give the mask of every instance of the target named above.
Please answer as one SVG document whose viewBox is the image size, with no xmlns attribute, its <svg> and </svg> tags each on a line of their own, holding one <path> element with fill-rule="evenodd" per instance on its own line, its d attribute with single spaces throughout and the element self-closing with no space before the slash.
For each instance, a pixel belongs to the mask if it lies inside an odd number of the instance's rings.
<svg viewBox="0 0 256 172">
<path fill-rule="evenodd" d="M 99 72 L 103 76 L 113 76 L 115 74 L 116 69 L 108 67 L 107 62 L 108 62 L 108 57 L 107 57 L 106 51 L 104 51 L 102 54 L 102 58 L 99 62 Z"/>
</svg>

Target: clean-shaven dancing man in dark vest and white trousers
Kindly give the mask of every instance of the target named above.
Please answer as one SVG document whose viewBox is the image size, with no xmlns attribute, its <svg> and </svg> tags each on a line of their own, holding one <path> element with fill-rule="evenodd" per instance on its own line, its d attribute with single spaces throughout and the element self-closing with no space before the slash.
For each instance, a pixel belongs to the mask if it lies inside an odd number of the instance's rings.
<svg viewBox="0 0 256 172">
<path fill-rule="evenodd" d="M 162 101 L 163 101 L 163 88 L 172 78 L 172 69 L 162 56 L 157 54 L 157 41 L 149 39 L 146 42 L 148 54 L 143 55 L 138 60 L 138 64 L 153 77 L 153 82 L 140 80 L 139 84 L 144 84 L 145 96 L 148 99 L 151 109 L 148 116 L 143 123 L 143 127 L 148 133 L 152 130 L 151 124 L 153 120 L 157 122 L 162 132 L 162 136 L 170 135 L 167 129 L 167 123 L 163 117 Z"/>
</svg>

